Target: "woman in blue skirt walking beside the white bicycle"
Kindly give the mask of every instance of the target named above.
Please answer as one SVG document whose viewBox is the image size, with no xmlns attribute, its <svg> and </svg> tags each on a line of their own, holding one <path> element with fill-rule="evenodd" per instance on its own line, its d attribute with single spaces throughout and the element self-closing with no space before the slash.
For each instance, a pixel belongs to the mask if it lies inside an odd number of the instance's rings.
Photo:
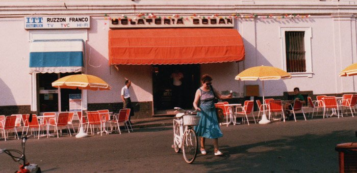
<svg viewBox="0 0 357 173">
<path fill-rule="evenodd" d="M 219 128 L 216 108 L 214 105 L 214 98 L 228 99 L 232 98 L 230 95 L 221 95 L 212 87 L 212 77 L 205 74 L 201 77 L 202 86 L 196 91 L 195 100 L 193 101 L 193 107 L 198 111 L 197 116 L 201 117 L 195 131 L 197 136 L 201 136 L 200 151 L 203 155 L 206 155 L 205 139 L 213 139 L 214 155 L 222 155 L 222 152 L 218 150 L 218 138 L 223 134 Z"/>
</svg>

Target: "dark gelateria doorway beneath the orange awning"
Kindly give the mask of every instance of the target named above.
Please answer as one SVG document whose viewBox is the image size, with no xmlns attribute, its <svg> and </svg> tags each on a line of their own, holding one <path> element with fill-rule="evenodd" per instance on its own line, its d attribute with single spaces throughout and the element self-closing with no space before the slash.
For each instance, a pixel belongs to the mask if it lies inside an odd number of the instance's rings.
<svg viewBox="0 0 357 173">
<path fill-rule="evenodd" d="M 183 74 L 182 84 L 173 84 L 172 73 Z M 168 110 L 181 106 L 191 109 L 196 90 L 200 86 L 200 66 L 190 65 L 155 65 L 152 70 L 152 88 L 154 110 Z M 177 84 L 177 83 L 176 83 Z"/>
</svg>

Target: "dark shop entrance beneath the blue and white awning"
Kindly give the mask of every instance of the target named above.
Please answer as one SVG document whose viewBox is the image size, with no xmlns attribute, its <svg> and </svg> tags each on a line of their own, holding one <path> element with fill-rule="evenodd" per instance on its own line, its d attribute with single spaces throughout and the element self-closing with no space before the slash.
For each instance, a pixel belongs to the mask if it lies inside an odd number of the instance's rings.
<svg viewBox="0 0 357 173">
<path fill-rule="evenodd" d="M 38 73 L 38 101 L 39 101 L 39 111 L 42 112 L 59 112 L 69 110 L 69 94 L 81 94 L 81 90 L 70 90 L 52 87 L 52 82 L 55 80 L 72 75 L 81 73 Z M 60 97 L 59 97 L 60 94 Z M 61 103 L 61 104 L 59 104 Z"/>
</svg>

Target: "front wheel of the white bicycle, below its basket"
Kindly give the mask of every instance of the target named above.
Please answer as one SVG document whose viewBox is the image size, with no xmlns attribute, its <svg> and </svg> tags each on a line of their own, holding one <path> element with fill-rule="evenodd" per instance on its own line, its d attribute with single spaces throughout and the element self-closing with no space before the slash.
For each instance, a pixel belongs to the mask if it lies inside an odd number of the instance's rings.
<svg viewBox="0 0 357 173">
<path fill-rule="evenodd" d="M 182 153 L 187 163 L 192 163 L 197 155 L 197 137 L 193 129 L 188 129 L 182 141 Z"/>
</svg>

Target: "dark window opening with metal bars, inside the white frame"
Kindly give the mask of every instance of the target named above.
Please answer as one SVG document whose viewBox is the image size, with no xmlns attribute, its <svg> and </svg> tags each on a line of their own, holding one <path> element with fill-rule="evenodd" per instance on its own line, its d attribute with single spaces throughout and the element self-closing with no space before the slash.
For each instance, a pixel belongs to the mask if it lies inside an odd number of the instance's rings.
<svg viewBox="0 0 357 173">
<path fill-rule="evenodd" d="M 306 72 L 304 31 L 286 31 L 287 72 Z"/>
</svg>

